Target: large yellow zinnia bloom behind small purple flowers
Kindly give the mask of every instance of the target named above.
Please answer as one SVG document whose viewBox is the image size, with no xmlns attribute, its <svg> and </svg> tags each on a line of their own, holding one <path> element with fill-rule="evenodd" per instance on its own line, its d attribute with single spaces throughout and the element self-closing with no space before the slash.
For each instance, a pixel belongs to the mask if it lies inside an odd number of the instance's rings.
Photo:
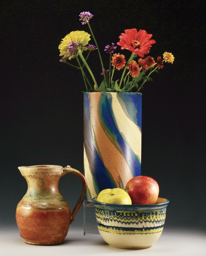
<svg viewBox="0 0 206 256">
<path fill-rule="evenodd" d="M 85 31 L 72 31 L 70 34 L 66 35 L 65 38 L 62 39 L 60 45 L 59 45 L 59 50 L 60 50 L 60 54 L 59 56 L 68 56 L 69 60 L 71 60 L 72 58 L 75 57 L 74 54 L 72 54 L 71 52 L 68 53 L 68 45 L 70 42 L 74 41 L 76 43 L 78 43 L 78 49 L 81 50 L 81 52 L 88 50 L 87 47 L 84 47 L 85 45 L 88 44 L 90 39 L 90 34 L 88 34 Z M 78 52 L 76 53 L 76 55 L 78 56 Z"/>
</svg>

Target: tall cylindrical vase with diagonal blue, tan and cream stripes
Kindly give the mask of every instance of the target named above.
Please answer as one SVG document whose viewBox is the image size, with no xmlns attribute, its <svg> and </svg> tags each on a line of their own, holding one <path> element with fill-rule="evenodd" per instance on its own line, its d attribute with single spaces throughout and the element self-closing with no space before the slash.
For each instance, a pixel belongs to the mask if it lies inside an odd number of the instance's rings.
<svg viewBox="0 0 206 256">
<path fill-rule="evenodd" d="M 141 123 L 141 93 L 84 93 L 86 202 L 141 175 Z"/>
</svg>

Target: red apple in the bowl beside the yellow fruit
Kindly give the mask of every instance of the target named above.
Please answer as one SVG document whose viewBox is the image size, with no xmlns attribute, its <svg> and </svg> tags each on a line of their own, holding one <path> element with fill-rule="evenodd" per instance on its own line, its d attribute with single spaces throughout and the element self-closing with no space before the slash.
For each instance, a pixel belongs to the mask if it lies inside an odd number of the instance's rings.
<svg viewBox="0 0 206 256">
<path fill-rule="evenodd" d="M 159 186 L 151 177 L 137 176 L 128 181 L 125 191 L 129 194 L 132 204 L 155 204 Z"/>
</svg>

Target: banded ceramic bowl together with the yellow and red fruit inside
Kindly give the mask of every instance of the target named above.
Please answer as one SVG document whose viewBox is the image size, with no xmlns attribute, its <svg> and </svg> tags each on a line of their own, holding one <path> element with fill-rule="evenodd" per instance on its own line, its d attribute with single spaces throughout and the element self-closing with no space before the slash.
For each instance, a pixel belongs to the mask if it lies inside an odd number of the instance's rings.
<svg viewBox="0 0 206 256">
<path fill-rule="evenodd" d="M 157 182 L 147 176 L 132 178 L 125 190 L 106 189 L 93 198 L 99 233 L 113 247 L 150 247 L 162 233 L 169 200 L 158 197 Z"/>
</svg>

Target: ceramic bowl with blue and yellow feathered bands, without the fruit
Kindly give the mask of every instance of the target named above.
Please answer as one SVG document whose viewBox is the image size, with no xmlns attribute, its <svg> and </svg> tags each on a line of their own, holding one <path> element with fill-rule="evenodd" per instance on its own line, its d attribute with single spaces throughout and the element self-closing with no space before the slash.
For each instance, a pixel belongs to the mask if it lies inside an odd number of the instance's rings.
<svg viewBox="0 0 206 256">
<path fill-rule="evenodd" d="M 155 204 L 107 204 L 93 198 L 100 235 L 112 247 L 141 249 L 156 243 L 164 227 L 169 200 L 158 197 Z"/>
</svg>

